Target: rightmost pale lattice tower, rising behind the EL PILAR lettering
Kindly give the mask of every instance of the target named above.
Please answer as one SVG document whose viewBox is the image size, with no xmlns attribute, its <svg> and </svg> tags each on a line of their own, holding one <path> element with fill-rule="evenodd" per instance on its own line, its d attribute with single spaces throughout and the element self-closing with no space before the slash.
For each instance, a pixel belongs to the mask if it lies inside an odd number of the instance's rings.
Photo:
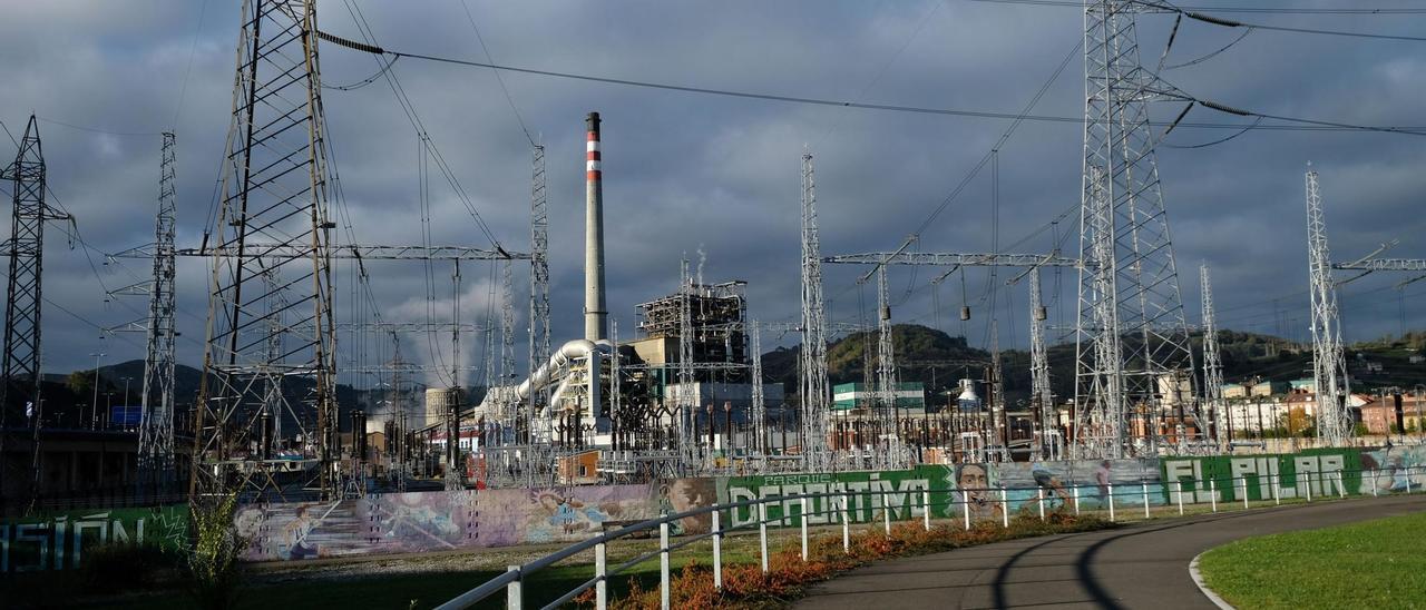
<svg viewBox="0 0 1426 610">
<path fill-rule="evenodd" d="M 1312 382 L 1316 386 L 1318 438 L 1340 446 L 1352 436 L 1352 413 L 1346 398 L 1349 381 L 1342 356 L 1342 324 L 1338 319 L 1332 252 L 1328 249 L 1326 218 L 1318 172 L 1308 168 L 1308 265 L 1312 294 Z"/>
</svg>

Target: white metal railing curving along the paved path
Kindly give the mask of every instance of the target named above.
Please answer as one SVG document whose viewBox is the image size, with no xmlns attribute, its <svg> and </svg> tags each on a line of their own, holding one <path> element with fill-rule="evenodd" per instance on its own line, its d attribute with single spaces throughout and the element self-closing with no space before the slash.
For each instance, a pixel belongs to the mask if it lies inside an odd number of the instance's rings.
<svg viewBox="0 0 1426 610">
<path fill-rule="evenodd" d="M 1400 480 L 1405 482 L 1405 492 L 1413 493 L 1422 487 L 1416 485 L 1413 489 L 1412 476 L 1422 475 L 1426 472 L 1422 466 L 1409 466 L 1392 469 L 1392 480 L 1397 480 L 1397 473 L 1405 473 Z M 1060 486 L 1034 486 L 1034 487 L 973 487 L 973 489 L 955 489 L 955 490 L 930 490 L 930 489 L 876 489 L 876 490 L 837 490 L 837 492 L 821 492 L 821 493 L 797 493 L 797 495 L 783 495 L 783 496 L 766 496 L 756 497 L 742 502 L 730 502 L 723 505 L 704 506 L 693 510 L 686 510 L 674 515 L 663 515 L 655 519 L 647 519 L 639 523 L 633 523 L 612 532 L 602 533 L 592 539 L 566 546 L 555 553 L 539 557 L 522 566 L 508 566 L 506 572 L 496 576 L 481 586 L 462 593 L 461 596 L 438 606 L 438 610 L 455 610 L 466 609 L 482 600 L 489 599 L 501 590 L 506 594 L 506 607 L 509 610 L 522 610 L 525 607 L 525 591 L 523 586 L 526 579 L 535 573 L 545 570 L 559 562 L 570 559 L 579 553 L 593 550 L 595 563 L 593 574 L 589 580 L 582 581 L 575 589 L 566 591 L 559 599 L 542 606 L 545 610 L 555 609 L 560 604 L 569 603 L 579 594 L 589 589 L 595 590 L 595 607 L 597 610 L 605 610 L 609 603 L 607 583 L 610 577 L 619 576 L 625 570 L 629 570 L 640 563 L 659 559 L 659 591 L 660 591 L 660 606 L 667 610 L 670 606 L 670 559 L 677 550 L 682 550 L 690 544 L 702 540 L 712 540 L 712 579 L 713 587 L 722 590 L 723 587 L 723 539 L 729 533 L 734 533 L 744 529 L 757 527 L 759 536 L 759 563 L 763 573 L 769 572 L 769 549 L 767 549 L 767 530 L 769 524 L 776 524 L 780 527 L 799 527 L 800 529 L 800 544 L 801 544 L 801 559 L 807 560 L 810 549 L 810 526 L 823 526 L 831 522 L 840 523 L 841 527 L 841 546 L 844 553 L 851 553 L 851 524 L 854 519 L 851 516 L 853 510 L 857 512 L 857 517 L 861 517 L 868 510 L 871 519 L 880 512 L 881 527 L 887 534 L 891 533 L 891 522 L 910 522 L 914 517 L 921 517 L 921 526 L 925 530 L 931 530 L 931 513 L 934 507 L 958 507 L 960 517 L 955 519 L 961 522 L 965 530 L 978 520 L 985 520 L 985 513 L 988 512 L 991 517 L 998 516 L 1001 527 L 1010 527 L 1010 506 L 1011 506 L 1011 492 L 1034 492 L 1034 497 L 1020 500 L 1020 512 L 1024 515 L 1030 507 L 1034 506 L 1041 520 L 1047 519 L 1047 509 L 1054 510 L 1055 496 L 1060 499 L 1060 509 L 1074 510 L 1078 516 L 1082 512 L 1081 499 L 1095 499 L 1097 502 L 1091 506 L 1092 512 L 1108 513 L 1109 522 L 1119 522 L 1122 512 L 1125 509 L 1134 510 L 1142 506 L 1144 519 L 1152 519 L 1152 507 L 1158 506 L 1172 512 L 1176 506 L 1176 515 L 1185 515 L 1185 505 L 1204 505 L 1208 503 L 1211 512 L 1218 513 L 1221 506 L 1218 502 L 1219 482 L 1226 480 L 1235 496 L 1241 496 L 1242 507 L 1246 510 L 1251 507 L 1249 499 L 1249 479 L 1258 479 L 1259 496 L 1263 495 L 1262 486 L 1266 485 L 1271 489 L 1271 502 L 1273 506 L 1282 505 L 1283 489 L 1292 489 L 1293 496 L 1298 496 L 1298 490 L 1302 490 L 1302 499 L 1308 503 L 1313 500 L 1313 483 L 1319 490 L 1330 490 L 1338 497 L 1346 497 L 1349 495 L 1346 489 L 1345 475 L 1356 473 L 1362 475 L 1362 482 L 1370 475 L 1372 480 L 1372 496 L 1378 496 L 1382 473 L 1383 470 L 1316 470 L 1309 473 L 1299 473 L 1292 476 L 1292 487 L 1281 487 L 1283 483 L 1283 476 L 1276 472 L 1259 475 L 1259 473 L 1245 473 L 1243 476 L 1205 476 L 1205 477 L 1179 477 L 1175 480 L 1144 480 L 1139 483 L 1105 483 L 1105 485 L 1060 485 Z M 1387 492 L 1395 495 L 1396 486 L 1387 487 Z M 1081 490 L 1094 490 L 1098 493 L 1081 493 Z M 1166 500 L 1164 503 L 1151 502 L 1151 490 L 1154 495 Z M 1070 492 L 1070 499 L 1064 497 L 1064 492 Z M 1206 502 L 1202 502 L 1202 492 L 1208 492 Z M 913 493 L 920 495 L 918 502 L 913 502 Z M 933 493 L 950 496 L 950 502 L 931 502 Z M 1318 499 L 1323 495 L 1319 492 Z M 1350 495 L 1363 495 L 1355 492 Z M 904 496 L 903 502 L 893 502 L 891 496 Z M 1121 500 L 1128 497 L 1128 500 Z M 1185 502 L 1188 499 L 1188 502 Z M 821 509 L 813 510 L 813 505 L 819 500 L 823 505 Z M 857 500 L 853 506 L 851 500 Z M 863 500 L 877 500 L 877 502 L 863 502 Z M 1268 502 L 1268 497 L 1259 497 L 1258 502 Z M 780 510 L 780 516 L 769 517 L 769 505 L 776 505 Z M 997 506 L 998 505 L 998 506 Z M 800 510 L 786 510 L 789 507 L 797 507 Z M 987 510 L 987 507 L 990 510 Z M 747 509 L 756 513 L 752 522 L 737 524 L 734 527 L 723 527 L 723 515 L 727 513 L 729 517 L 734 517 L 734 510 Z M 1226 506 L 1224 506 L 1226 509 Z M 903 517 L 893 517 L 893 512 L 904 513 Z M 1134 510 L 1137 513 L 1137 510 Z M 920 515 L 917 515 L 920 513 Z M 973 513 L 981 513 L 981 517 Z M 998 515 L 997 515 L 998 513 Z M 670 529 L 674 523 L 684 519 L 697 519 L 702 516 L 710 516 L 712 527 L 706 533 L 683 536 L 677 542 L 670 537 Z M 821 523 L 811 523 L 811 517 L 819 517 Z M 821 517 L 827 517 L 823 520 Z M 789 522 L 794 522 L 789 524 Z M 874 523 L 867 522 L 867 526 L 874 526 Z M 647 553 L 637 554 L 636 557 L 623 562 L 617 566 L 609 566 L 609 543 L 613 540 L 632 537 L 633 534 L 642 532 L 659 532 L 659 547 Z"/>
</svg>

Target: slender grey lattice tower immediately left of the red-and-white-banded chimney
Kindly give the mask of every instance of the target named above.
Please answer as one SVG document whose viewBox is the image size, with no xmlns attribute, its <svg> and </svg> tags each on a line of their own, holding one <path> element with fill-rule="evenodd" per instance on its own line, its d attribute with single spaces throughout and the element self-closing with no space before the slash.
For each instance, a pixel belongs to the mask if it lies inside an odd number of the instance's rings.
<svg viewBox="0 0 1426 610">
<path fill-rule="evenodd" d="M 549 361 L 549 212 L 545 208 L 545 147 L 536 145 L 530 162 L 530 334 L 529 376 Z M 549 391 L 530 395 L 529 413 L 539 413 L 549 403 Z M 529 422 L 515 422 L 529 433 Z M 528 442 L 528 436 L 520 440 Z"/>
</svg>

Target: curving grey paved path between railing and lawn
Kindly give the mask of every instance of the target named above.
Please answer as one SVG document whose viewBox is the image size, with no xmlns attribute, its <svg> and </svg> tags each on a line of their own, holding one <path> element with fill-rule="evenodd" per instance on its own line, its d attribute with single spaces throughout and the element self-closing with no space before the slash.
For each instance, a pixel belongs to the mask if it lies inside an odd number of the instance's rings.
<svg viewBox="0 0 1426 610">
<path fill-rule="evenodd" d="M 1426 510 L 1426 495 L 1165 519 L 877 562 L 817 584 L 799 609 L 1205 609 L 1194 556 L 1248 536 Z"/>
</svg>

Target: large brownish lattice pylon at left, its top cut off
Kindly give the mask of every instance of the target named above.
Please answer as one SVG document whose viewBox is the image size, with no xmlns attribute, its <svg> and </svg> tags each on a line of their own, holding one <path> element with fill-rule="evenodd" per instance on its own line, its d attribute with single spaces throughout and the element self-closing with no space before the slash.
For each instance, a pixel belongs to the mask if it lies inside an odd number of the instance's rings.
<svg viewBox="0 0 1426 610">
<path fill-rule="evenodd" d="M 221 208 L 207 238 L 212 257 L 204 378 L 195 409 L 194 499 L 217 493 L 281 495 L 247 453 L 264 386 L 301 386 L 299 413 L 308 480 L 324 497 L 335 473 L 337 362 L 332 321 L 331 229 L 322 87 L 314 0 L 245 0 L 232 88 L 232 123 L 222 164 Z M 247 244 L 291 249 L 252 255 Z M 285 301 L 267 311 L 278 278 Z M 271 316 L 284 316 L 284 358 L 268 353 Z M 282 383 L 288 381 L 287 383 Z M 284 400 L 285 402 L 285 400 Z M 311 419 L 308 419 L 311 418 Z M 305 422 L 314 420 L 315 426 Z M 315 472 L 314 472 L 315 470 Z"/>
</svg>

